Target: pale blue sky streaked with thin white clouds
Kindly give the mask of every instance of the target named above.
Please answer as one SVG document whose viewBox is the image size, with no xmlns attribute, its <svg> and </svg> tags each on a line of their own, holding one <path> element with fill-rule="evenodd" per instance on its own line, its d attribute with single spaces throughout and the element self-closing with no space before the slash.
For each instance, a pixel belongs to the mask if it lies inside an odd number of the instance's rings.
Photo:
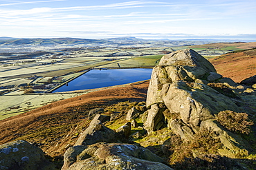
<svg viewBox="0 0 256 170">
<path fill-rule="evenodd" d="M 0 0 L 0 36 L 256 39 L 256 1 Z"/>
</svg>

